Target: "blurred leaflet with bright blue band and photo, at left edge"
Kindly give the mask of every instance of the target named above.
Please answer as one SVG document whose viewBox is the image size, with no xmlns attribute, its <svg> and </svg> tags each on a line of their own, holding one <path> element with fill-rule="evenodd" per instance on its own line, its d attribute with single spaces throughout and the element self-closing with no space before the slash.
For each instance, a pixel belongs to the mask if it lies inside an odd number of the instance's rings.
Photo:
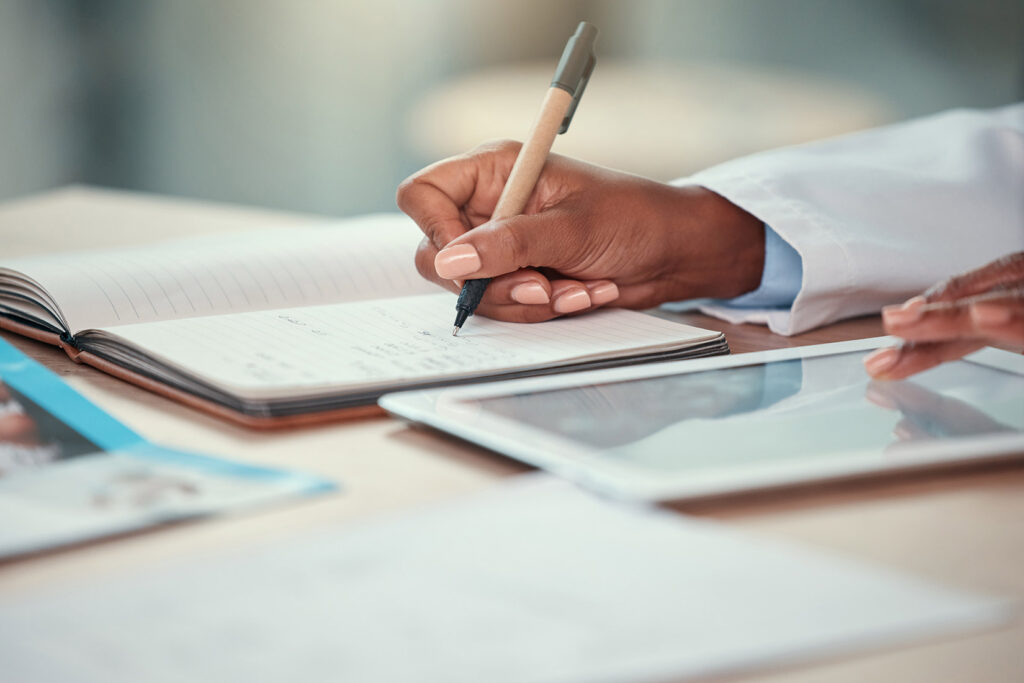
<svg viewBox="0 0 1024 683">
<path fill-rule="evenodd" d="M 0 558 L 335 488 L 152 443 L 0 338 Z"/>
</svg>

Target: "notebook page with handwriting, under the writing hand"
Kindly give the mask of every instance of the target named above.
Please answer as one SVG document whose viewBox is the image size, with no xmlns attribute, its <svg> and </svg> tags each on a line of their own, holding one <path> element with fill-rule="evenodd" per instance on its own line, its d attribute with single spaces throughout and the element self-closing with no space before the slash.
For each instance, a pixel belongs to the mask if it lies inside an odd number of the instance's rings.
<svg viewBox="0 0 1024 683">
<path fill-rule="evenodd" d="M 454 294 L 110 328 L 151 354 L 248 398 L 536 368 L 685 346 L 717 333 L 635 311 L 523 325 L 474 316 L 452 336 Z"/>
</svg>

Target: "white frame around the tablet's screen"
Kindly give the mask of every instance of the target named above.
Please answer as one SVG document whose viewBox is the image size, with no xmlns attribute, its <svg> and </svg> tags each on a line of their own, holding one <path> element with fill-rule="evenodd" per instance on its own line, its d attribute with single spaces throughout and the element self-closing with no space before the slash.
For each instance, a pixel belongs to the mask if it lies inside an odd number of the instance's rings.
<svg viewBox="0 0 1024 683">
<path fill-rule="evenodd" d="M 880 458 L 877 450 L 851 451 L 828 459 L 775 460 L 742 468 L 701 469 L 667 477 L 641 467 L 600 458 L 599 450 L 501 416 L 473 410 L 465 400 L 530 391 L 646 379 L 685 373 L 866 351 L 897 343 L 891 337 L 816 344 L 611 370 L 535 377 L 470 386 L 387 394 L 380 405 L 391 415 L 424 424 L 499 454 L 553 472 L 605 496 L 644 501 L 678 501 L 762 488 L 916 470 L 953 463 L 988 462 L 1024 456 L 1024 432 L 991 434 L 907 444 L 899 460 Z M 1024 375 L 1024 355 L 993 348 L 967 360 Z"/>
</svg>

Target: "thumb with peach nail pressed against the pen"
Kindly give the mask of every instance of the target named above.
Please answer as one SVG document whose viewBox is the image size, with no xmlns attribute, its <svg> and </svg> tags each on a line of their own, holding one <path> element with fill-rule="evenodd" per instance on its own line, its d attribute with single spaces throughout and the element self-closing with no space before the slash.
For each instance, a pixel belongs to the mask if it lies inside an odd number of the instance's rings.
<svg viewBox="0 0 1024 683">
<path fill-rule="evenodd" d="M 580 253 L 574 221 L 546 211 L 513 216 L 475 227 L 434 257 L 445 280 L 495 278 L 525 267 L 563 269 Z"/>
</svg>

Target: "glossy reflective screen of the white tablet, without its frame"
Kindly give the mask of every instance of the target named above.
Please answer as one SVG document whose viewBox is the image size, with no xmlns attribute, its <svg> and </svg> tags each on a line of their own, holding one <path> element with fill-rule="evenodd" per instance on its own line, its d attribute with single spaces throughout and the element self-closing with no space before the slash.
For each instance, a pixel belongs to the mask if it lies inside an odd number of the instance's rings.
<svg viewBox="0 0 1024 683">
<path fill-rule="evenodd" d="M 659 471 L 1024 431 L 1024 376 L 959 360 L 873 382 L 841 353 L 473 400 L 485 413 Z"/>
</svg>

